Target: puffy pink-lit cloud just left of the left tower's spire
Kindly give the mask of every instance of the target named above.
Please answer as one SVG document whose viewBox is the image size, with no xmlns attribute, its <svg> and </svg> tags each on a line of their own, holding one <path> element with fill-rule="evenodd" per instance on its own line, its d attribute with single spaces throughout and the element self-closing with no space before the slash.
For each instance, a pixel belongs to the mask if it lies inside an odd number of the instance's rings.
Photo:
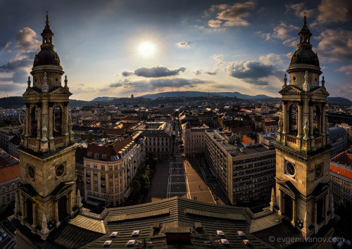
<svg viewBox="0 0 352 249">
<path fill-rule="evenodd" d="M 32 51 L 34 49 L 39 49 L 41 41 L 35 39 L 37 33 L 34 32 L 30 27 L 24 27 L 16 35 L 15 49 L 20 52 Z"/>
</svg>

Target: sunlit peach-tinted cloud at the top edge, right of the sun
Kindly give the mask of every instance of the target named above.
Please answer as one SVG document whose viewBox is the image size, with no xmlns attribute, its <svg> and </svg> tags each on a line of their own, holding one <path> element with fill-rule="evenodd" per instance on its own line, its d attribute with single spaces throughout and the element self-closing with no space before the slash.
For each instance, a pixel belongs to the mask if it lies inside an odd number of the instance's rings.
<svg viewBox="0 0 352 249">
<path fill-rule="evenodd" d="M 232 5 L 214 5 L 210 7 L 209 12 L 220 12 L 216 15 L 217 20 L 210 20 L 208 25 L 210 27 L 220 27 L 221 23 L 223 23 L 222 25 L 227 27 L 248 26 L 249 23 L 244 18 L 248 17 L 249 12 L 254 8 L 256 8 L 256 3 L 254 1 L 246 1 L 244 3 L 235 3 Z"/>
</svg>

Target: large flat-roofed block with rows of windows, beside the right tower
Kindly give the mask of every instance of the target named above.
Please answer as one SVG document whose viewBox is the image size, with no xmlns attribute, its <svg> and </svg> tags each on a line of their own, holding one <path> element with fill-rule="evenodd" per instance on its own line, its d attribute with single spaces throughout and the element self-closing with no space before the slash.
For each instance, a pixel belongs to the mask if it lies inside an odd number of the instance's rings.
<svg viewBox="0 0 352 249">
<path fill-rule="evenodd" d="M 270 202 L 275 186 L 275 150 L 262 143 L 244 146 L 238 136 L 205 132 L 205 158 L 232 205 Z"/>
</svg>

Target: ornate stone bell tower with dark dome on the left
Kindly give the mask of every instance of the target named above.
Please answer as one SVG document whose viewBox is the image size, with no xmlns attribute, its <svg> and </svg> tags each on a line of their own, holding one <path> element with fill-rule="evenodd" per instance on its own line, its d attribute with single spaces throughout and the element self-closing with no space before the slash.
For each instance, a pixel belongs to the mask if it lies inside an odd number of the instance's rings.
<svg viewBox="0 0 352 249">
<path fill-rule="evenodd" d="M 54 51 L 54 33 L 46 25 L 42 45 L 34 57 L 33 84 L 23 94 L 26 117 L 20 143 L 20 191 L 15 217 L 43 239 L 60 222 L 78 212 L 75 184 L 75 149 L 68 114 L 71 96 L 61 86 L 63 68 Z"/>
</svg>

